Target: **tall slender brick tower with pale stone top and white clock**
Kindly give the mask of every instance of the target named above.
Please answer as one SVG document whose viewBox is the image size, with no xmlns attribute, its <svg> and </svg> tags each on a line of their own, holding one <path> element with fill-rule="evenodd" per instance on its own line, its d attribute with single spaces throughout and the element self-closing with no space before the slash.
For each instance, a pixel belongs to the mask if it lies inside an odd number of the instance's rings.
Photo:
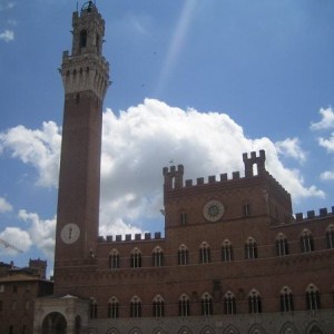
<svg viewBox="0 0 334 334">
<path fill-rule="evenodd" d="M 105 21 L 92 1 L 72 16 L 72 51 L 65 51 L 62 144 L 55 276 L 92 262 L 98 237 L 102 102 L 109 63 L 101 55 Z M 57 284 L 56 284 L 57 285 Z"/>
</svg>

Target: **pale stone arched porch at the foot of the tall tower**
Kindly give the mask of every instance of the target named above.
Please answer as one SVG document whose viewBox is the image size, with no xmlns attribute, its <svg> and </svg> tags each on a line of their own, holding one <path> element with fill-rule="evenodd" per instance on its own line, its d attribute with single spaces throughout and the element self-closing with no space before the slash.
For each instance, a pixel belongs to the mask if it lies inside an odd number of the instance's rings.
<svg viewBox="0 0 334 334">
<path fill-rule="evenodd" d="M 89 301 L 72 295 L 35 301 L 33 334 L 84 334 L 89 331 Z"/>
</svg>

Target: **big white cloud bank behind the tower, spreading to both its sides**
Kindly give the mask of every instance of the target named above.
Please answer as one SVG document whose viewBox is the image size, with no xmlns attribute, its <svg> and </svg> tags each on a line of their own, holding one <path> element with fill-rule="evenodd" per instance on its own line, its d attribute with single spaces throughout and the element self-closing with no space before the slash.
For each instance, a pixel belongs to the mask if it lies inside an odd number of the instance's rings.
<svg viewBox="0 0 334 334">
<path fill-rule="evenodd" d="M 52 121 L 35 130 L 23 126 L 11 128 L 0 134 L 0 155 L 33 166 L 36 185 L 57 187 L 60 134 L 61 128 Z M 299 163 L 306 160 L 297 138 L 276 144 L 269 138 L 250 139 L 227 114 L 184 110 L 156 99 L 145 99 L 119 116 L 107 109 L 102 129 L 100 234 L 161 230 L 165 166 L 183 164 L 185 179 L 235 170 L 243 175 L 243 153 L 259 149 L 266 150 L 267 169 L 294 200 L 324 196 L 314 185 L 304 184 L 299 169 L 286 168 L 281 160 L 282 156 Z M 24 247 L 38 245 L 51 258 L 56 218 L 42 219 L 37 213 L 29 213 L 29 208 L 21 208 L 18 217 L 27 226 L 17 230 L 21 243 L 26 240 Z M 2 232 L 4 236 L 9 233 L 8 228 Z"/>
</svg>

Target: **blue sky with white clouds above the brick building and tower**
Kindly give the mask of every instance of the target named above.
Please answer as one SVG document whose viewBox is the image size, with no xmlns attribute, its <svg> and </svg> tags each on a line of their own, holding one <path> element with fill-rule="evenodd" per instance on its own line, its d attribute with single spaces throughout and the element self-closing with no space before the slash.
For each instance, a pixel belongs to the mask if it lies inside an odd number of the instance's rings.
<svg viewBox="0 0 334 334">
<path fill-rule="evenodd" d="M 79 1 L 79 8 L 84 4 Z M 98 0 L 105 99 L 100 234 L 163 230 L 161 169 L 242 170 L 266 149 L 294 213 L 331 209 L 331 0 Z M 0 0 L 0 261 L 52 267 L 68 0 Z"/>
</svg>

